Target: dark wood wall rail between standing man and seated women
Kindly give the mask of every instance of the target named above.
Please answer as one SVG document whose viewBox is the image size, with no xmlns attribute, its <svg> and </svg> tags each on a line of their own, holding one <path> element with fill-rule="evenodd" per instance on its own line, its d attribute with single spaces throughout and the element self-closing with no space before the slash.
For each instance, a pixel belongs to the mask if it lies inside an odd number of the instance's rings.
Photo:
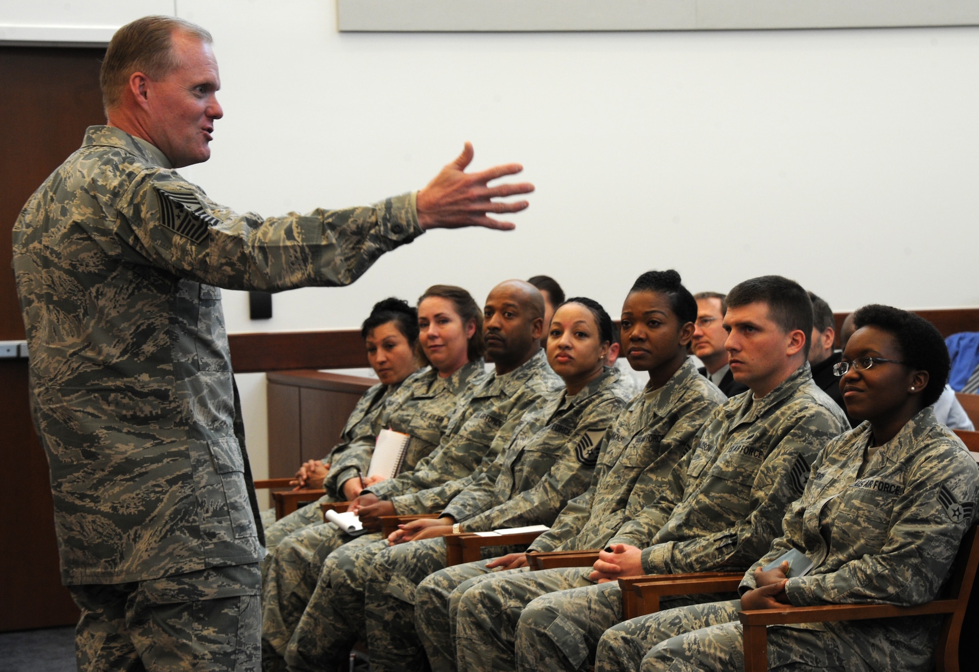
<svg viewBox="0 0 979 672">
<path fill-rule="evenodd" d="M 369 365 L 357 329 L 229 334 L 228 343 L 236 373 Z"/>
</svg>

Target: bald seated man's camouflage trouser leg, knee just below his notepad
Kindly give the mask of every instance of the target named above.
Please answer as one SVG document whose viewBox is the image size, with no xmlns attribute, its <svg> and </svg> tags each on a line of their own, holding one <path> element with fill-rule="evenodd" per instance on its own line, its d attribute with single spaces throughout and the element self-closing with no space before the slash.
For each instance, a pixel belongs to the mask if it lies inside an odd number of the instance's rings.
<svg viewBox="0 0 979 672">
<path fill-rule="evenodd" d="M 284 651 L 289 670 L 346 669 L 350 647 L 364 637 L 363 587 L 387 548 L 380 533 L 370 534 L 325 558 Z"/>
</svg>

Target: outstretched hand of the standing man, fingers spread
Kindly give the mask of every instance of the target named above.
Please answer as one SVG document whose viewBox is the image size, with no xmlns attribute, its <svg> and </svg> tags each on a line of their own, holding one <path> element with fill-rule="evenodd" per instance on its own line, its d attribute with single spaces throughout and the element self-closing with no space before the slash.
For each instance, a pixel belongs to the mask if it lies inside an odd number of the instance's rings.
<svg viewBox="0 0 979 672">
<path fill-rule="evenodd" d="M 505 164 L 481 172 L 465 172 L 473 160 L 473 154 L 473 145 L 467 142 L 462 154 L 418 192 L 418 223 L 423 229 L 485 226 L 509 230 L 514 228 L 513 223 L 493 219 L 487 214 L 519 213 L 530 205 L 527 201 L 508 203 L 492 200 L 515 194 L 529 194 L 534 191 L 534 185 L 530 182 L 494 187 L 487 185 L 504 175 L 517 174 L 524 169 L 523 166 Z"/>
</svg>

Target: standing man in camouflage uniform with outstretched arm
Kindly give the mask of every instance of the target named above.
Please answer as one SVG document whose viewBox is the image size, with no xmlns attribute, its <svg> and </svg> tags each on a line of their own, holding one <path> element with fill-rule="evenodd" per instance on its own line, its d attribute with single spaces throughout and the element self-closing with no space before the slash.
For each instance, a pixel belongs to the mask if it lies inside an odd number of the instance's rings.
<svg viewBox="0 0 979 672">
<path fill-rule="evenodd" d="M 203 28 L 120 28 L 102 70 L 109 125 L 86 131 L 14 228 L 82 669 L 256 666 L 263 550 L 218 287 L 348 284 L 427 227 L 507 227 L 486 212 L 526 203 L 489 198 L 532 188 L 485 189 L 517 167 L 467 175 L 467 146 L 417 194 L 239 215 L 174 171 L 210 157 L 219 85 Z"/>
</svg>

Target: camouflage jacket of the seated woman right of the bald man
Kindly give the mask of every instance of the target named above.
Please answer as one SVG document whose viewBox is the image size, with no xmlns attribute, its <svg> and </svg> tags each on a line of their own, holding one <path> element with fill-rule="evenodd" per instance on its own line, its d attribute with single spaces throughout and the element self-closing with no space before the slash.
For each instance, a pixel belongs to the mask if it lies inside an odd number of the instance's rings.
<svg viewBox="0 0 979 672">
<path fill-rule="evenodd" d="M 588 487 L 605 431 L 626 405 L 618 369 L 606 368 L 573 397 L 567 389 L 529 408 L 493 467 L 444 513 L 467 532 L 550 525 Z M 492 478 L 492 474 L 496 474 Z"/>
</svg>

